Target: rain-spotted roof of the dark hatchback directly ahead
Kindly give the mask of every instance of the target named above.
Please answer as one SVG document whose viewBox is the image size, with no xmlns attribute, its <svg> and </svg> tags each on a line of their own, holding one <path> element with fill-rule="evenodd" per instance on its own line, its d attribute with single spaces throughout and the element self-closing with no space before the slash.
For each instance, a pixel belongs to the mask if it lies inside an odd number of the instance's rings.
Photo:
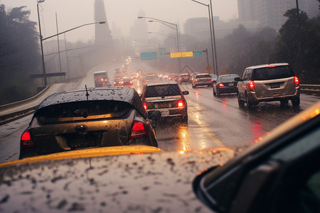
<svg viewBox="0 0 320 213">
<path fill-rule="evenodd" d="M 146 111 L 142 106 L 142 101 L 139 97 L 139 94 L 135 89 L 129 87 L 88 88 L 87 91 L 85 89 L 78 89 L 54 93 L 44 99 L 39 105 L 38 109 L 55 104 L 92 100 L 127 102 L 132 104 L 133 107 L 135 107 L 143 116 L 146 117 Z"/>
</svg>

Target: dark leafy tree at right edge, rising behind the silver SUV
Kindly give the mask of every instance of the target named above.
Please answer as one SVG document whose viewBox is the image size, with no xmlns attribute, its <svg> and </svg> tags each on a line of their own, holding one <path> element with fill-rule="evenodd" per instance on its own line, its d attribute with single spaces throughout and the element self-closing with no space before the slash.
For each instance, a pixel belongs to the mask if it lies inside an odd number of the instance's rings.
<svg viewBox="0 0 320 213">
<path fill-rule="evenodd" d="M 319 83 L 319 24 L 320 19 L 309 19 L 304 11 L 288 10 L 288 19 L 279 30 L 272 58 L 289 62 L 302 83 Z"/>
</svg>

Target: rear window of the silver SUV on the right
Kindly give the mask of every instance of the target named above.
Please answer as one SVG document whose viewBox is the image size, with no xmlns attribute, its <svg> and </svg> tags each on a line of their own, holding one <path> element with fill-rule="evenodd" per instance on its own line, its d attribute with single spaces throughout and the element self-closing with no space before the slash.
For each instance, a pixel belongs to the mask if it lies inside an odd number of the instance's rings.
<svg viewBox="0 0 320 213">
<path fill-rule="evenodd" d="M 279 66 L 279 67 L 263 67 L 256 69 L 253 72 L 253 80 L 273 80 L 286 77 L 292 77 L 294 74 L 291 67 Z"/>
</svg>

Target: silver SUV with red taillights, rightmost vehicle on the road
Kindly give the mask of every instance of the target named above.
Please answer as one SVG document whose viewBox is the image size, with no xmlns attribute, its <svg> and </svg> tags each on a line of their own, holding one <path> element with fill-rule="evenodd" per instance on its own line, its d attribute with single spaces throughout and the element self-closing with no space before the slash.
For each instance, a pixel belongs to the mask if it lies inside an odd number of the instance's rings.
<svg viewBox="0 0 320 213">
<path fill-rule="evenodd" d="M 274 101 L 284 105 L 289 100 L 294 107 L 300 104 L 299 79 L 287 63 L 247 67 L 237 88 L 240 107 Z"/>
</svg>

